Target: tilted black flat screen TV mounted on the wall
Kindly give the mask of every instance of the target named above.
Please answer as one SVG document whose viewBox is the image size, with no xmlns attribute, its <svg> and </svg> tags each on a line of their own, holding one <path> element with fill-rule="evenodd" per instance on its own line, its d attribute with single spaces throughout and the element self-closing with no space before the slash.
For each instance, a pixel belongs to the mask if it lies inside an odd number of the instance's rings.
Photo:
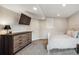
<svg viewBox="0 0 79 59">
<path fill-rule="evenodd" d="M 21 14 L 19 24 L 30 25 L 30 22 L 31 22 L 31 17 L 29 17 L 25 14 Z"/>
</svg>

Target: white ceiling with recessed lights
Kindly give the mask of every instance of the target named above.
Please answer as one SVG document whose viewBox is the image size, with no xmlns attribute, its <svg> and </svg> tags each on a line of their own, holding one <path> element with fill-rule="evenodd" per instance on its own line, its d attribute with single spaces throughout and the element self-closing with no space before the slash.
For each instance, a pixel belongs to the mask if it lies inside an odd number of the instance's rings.
<svg viewBox="0 0 79 59">
<path fill-rule="evenodd" d="M 67 18 L 79 11 L 79 4 L 66 4 L 66 6 L 62 6 L 62 4 L 3 4 L 1 6 L 37 19 Z M 34 10 L 33 7 L 37 10 Z"/>
</svg>

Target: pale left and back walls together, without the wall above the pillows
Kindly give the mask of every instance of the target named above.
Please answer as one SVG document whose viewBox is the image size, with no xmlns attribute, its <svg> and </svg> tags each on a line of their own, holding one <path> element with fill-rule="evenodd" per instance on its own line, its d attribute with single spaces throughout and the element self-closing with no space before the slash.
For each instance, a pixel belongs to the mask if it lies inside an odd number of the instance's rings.
<svg viewBox="0 0 79 59">
<path fill-rule="evenodd" d="M 47 18 L 46 20 L 31 19 L 30 25 L 19 25 L 20 14 L 0 7 L 0 24 L 11 25 L 13 32 L 32 31 L 32 40 L 48 38 L 49 30 L 54 28 L 65 32 L 67 29 L 67 20 L 64 18 Z M 3 26 L 0 26 L 2 29 Z"/>
</svg>

